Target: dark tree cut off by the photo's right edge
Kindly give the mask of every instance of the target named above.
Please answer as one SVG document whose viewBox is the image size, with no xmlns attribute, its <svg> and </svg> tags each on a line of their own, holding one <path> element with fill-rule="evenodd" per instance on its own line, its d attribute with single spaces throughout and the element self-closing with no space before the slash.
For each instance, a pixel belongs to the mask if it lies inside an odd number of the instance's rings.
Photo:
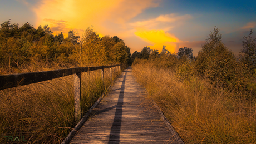
<svg viewBox="0 0 256 144">
<path fill-rule="evenodd" d="M 244 37 L 243 49 L 240 51 L 240 61 L 247 65 L 249 71 L 254 73 L 256 68 L 256 38 L 252 39 L 253 30 L 250 31 L 248 37 Z"/>
</svg>

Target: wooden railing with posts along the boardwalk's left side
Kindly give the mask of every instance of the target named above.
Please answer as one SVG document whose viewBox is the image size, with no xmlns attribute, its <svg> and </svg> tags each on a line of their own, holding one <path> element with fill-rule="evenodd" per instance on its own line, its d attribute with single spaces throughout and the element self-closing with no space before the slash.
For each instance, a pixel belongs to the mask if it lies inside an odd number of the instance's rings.
<svg viewBox="0 0 256 144">
<path fill-rule="evenodd" d="M 64 77 L 68 75 L 74 75 L 74 105 L 75 105 L 75 119 L 76 122 L 81 119 L 81 73 L 89 72 L 101 69 L 101 77 L 104 82 L 104 69 L 110 68 L 110 78 L 112 80 L 112 67 L 115 67 L 115 71 L 120 71 L 120 64 L 111 66 L 99 66 L 99 67 L 76 67 L 67 69 L 57 69 L 53 71 L 42 72 L 27 72 L 17 73 L 11 75 L 0 75 L 0 90 L 6 88 L 24 86 L 32 83 L 52 80 L 54 78 Z"/>
</svg>

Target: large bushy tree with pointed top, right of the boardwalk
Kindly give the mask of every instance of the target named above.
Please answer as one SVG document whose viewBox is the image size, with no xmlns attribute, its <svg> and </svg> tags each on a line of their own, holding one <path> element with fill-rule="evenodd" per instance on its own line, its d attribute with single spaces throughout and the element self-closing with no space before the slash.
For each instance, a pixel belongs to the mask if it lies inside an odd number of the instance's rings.
<svg viewBox="0 0 256 144">
<path fill-rule="evenodd" d="M 221 41 L 218 28 L 209 36 L 196 57 L 195 70 L 215 86 L 228 86 L 236 75 L 234 54 Z"/>
</svg>

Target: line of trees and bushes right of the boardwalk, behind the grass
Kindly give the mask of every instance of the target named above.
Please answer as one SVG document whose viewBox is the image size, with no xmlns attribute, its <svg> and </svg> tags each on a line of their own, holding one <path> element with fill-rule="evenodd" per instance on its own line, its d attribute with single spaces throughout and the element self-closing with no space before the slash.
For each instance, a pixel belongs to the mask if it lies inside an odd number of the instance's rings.
<svg viewBox="0 0 256 144">
<path fill-rule="evenodd" d="M 221 41 L 218 28 L 205 39 L 198 55 L 193 56 L 192 48 L 179 48 L 178 53 L 170 53 L 163 46 L 162 52 L 144 47 L 141 52 L 131 55 L 133 64 L 150 62 L 159 68 L 173 69 L 176 77 L 191 81 L 195 76 L 206 78 L 215 87 L 225 87 L 232 91 L 256 92 L 256 38 L 253 30 L 243 39 L 243 49 L 239 56 Z"/>
</svg>

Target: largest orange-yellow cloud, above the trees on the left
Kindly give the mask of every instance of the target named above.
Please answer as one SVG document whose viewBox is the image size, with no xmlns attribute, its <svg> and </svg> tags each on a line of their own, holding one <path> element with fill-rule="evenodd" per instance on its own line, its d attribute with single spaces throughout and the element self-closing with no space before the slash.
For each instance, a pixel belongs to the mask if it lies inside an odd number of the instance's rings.
<svg viewBox="0 0 256 144">
<path fill-rule="evenodd" d="M 20 0 L 25 1 L 25 0 Z M 127 36 L 126 22 L 145 9 L 157 7 L 155 0 L 42 0 L 35 7 L 36 25 L 48 25 L 54 33 L 67 29 L 86 29 L 91 25 L 102 34 Z M 81 33 L 82 34 L 82 33 Z"/>
</svg>

